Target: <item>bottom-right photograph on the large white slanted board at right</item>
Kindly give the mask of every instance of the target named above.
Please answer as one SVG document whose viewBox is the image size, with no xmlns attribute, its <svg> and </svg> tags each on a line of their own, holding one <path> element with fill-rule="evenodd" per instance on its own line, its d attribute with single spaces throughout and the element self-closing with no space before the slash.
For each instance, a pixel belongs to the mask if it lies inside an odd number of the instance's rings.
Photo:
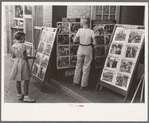
<svg viewBox="0 0 149 123">
<path fill-rule="evenodd" d="M 123 87 L 123 88 L 127 88 L 127 86 L 128 86 L 128 79 L 129 79 L 129 76 L 118 73 L 118 75 L 116 77 L 116 83 L 115 84 L 117 86 L 120 86 L 120 87 Z"/>
</svg>

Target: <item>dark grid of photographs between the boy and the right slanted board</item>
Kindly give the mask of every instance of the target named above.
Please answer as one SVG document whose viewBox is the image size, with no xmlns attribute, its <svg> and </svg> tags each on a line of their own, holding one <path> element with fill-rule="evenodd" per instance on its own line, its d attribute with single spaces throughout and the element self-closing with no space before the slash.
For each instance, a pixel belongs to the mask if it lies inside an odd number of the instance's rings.
<svg viewBox="0 0 149 123">
<path fill-rule="evenodd" d="M 94 47 L 96 68 L 102 68 L 104 66 L 103 61 L 109 50 L 109 44 L 113 29 L 114 24 L 97 24 L 93 27 L 93 31 L 97 39 L 97 45 Z"/>
</svg>

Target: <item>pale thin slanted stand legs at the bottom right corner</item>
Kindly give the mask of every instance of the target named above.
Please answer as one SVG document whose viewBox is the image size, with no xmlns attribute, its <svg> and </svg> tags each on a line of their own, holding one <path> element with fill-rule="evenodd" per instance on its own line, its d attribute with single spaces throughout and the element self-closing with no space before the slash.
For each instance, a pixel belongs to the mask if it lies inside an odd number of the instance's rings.
<svg viewBox="0 0 149 123">
<path fill-rule="evenodd" d="M 141 84 L 142 84 L 142 87 L 141 87 Z M 141 87 L 141 96 L 140 96 L 140 101 L 142 102 L 143 101 L 143 92 L 144 92 L 144 88 L 145 88 L 145 80 L 144 80 L 144 74 L 142 75 L 141 79 L 140 79 L 140 82 L 137 86 L 137 89 L 133 95 L 133 98 L 131 100 L 131 103 L 133 103 L 136 95 L 137 95 L 137 92 L 139 91 L 139 88 Z"/>
</svg>

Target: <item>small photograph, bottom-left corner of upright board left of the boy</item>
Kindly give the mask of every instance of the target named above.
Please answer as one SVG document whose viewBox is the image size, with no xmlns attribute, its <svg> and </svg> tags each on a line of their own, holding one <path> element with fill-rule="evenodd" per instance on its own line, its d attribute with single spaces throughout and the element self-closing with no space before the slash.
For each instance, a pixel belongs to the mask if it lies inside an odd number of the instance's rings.
<svg viewBox="0 0 149 123">
<path fill-rule="evenodd" d="M 65 67 L 69 67 L 69 57 L 60 57 L 58 58 L 57 61 L 57 68 L 65 68 Z"/>
</svg>

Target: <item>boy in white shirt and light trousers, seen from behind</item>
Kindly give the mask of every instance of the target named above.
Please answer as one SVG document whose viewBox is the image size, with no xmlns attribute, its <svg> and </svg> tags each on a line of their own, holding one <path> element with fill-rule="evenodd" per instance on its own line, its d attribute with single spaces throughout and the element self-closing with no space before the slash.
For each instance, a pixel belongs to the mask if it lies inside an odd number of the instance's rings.
<svg viewBox="0 0 149 123">
<path fill-rule="evenodd" d="M 93 48 L 92 44 L 96 45 L 95 34 L 93 30 L 89 29 L 90 20 L 88 17 L 81 18 L 81 24 L 83 28 L 79 29 L 74 42 L 80 39 L 80 45 L 77 52 L 77 64 L 75 69 L 75 75 L 73 84 L 79 85 L 81 81 L 81 89 L 88 88 L 88 78 L 90 73 L 90 64 L 92 61 Z M 93 39 L 93 42 L 92 40 Z M 82 79 L 81 79 L 81 73 Z"/>
</svg>

